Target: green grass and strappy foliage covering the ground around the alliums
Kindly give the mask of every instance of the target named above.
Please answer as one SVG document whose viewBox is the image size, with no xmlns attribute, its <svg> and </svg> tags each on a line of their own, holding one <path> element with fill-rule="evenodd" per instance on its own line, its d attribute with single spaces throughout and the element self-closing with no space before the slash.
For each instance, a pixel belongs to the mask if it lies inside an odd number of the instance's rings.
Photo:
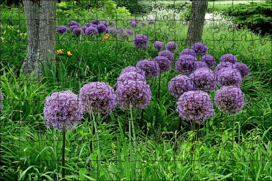
<svg viewBox="0 0 272 181">
<path fill-rule="evenodd" d="M 163 18 L 163 13 L 158 17 Z M 3 14 L 3 15 L 2 15 Z M 1 9 L 3 17 L 18 19 L 16 13 Z M 18 13 L 17 13 L 18 14 Z M 102 17 L 99 17 L 103 19 Z M 3 18 L 4 19 L 4 18 Z M 105 19 L 105 18 L 104 18 Z M 126 20 L 117 26 L 125 27 Z M 25 24 L 14 21 L 8 30 L 1 21 L 1 91 L 4 95 L 1 111 L 1 180 L 59 180 L 61 179 L 62 135 L 47 128 L 43 122 L 44 99 L 52 92 L 73 90 L 92 81 L 107 82 L 112 87 L 121 69 L 134 66 L 140 59 L 154 58 L 152 49 L 156 40 L 178 40 L 178 51 L 184 48 L 188 26 L 180 21 L 156 22 L 133 29 L 149 38 L 147 50 L 134 49 L 131 36 L 128 41 L 112 37 L 75 38 L 69 33 L 57 35 L 56 49 L 72 56 L 56 56 L 53 73 L 38 81 L 20 73 L 27 42 L 18 41 Z M 68 21 L 60 21 L 65 25 Z M 182 122 L 178 150 L 174 152 L 173 132 L 177 127 L 176 99 L 168 93 L 168 82 L 179 73 L 174 70 L 162 75 L 160 107 L 157 112 L 158 80 L 148 80 L 152 91 L 151 105 L 144 111 L 144 124 L 139 128 L 140 111 L 127 117 L 129 132 L 122 134 L 124 112 L 118 107 L 96 122 L 93 139 L 95 151 L 90 154 L 89 140 L 93 122 L 85 115 L 76 127 L 66 133 L 66 180 L 271 180 L 271 39 L 260 37 L 249 30 L 229 31 L 226 25 L 219 30 L 205 25 L 202 39 L 216 62 L 226 53 L 233 53 L 239 62 L 247 64 L 250 75 L 243 81 L 242 92 L 247 103 L 243 113 L 228 116 L 226 130 L 221 135 L 221 112 L 215 107 L 215 116 L 199 129 L 196 149 L 191 152 L 192 125 Z M 175 27 L 174 29 L 171 27 Z M 158 29 L 159 28 L 159 29 Z M 2 34 L 1 34 L 2 36 Z M 167 41 L 165 37 L 168 37 Z M 56 77 L 54 80 L 52 77 Z M 209 92 L 214 97 L 214 92 Z M 129 122 L 133 122 L 130 135 Z M 154 121 L 157 126 L 154 126 Z M 147 127 L 147 123 L 151 123 Z M 121 125 L 120 125 L 121 124 Z M 131 138 L 132 137 L 132 138 Z M 18 167 L 20 168 L 18 169 Z M 126 178 L 126 179 L 124 179 Z"/>
</svg>

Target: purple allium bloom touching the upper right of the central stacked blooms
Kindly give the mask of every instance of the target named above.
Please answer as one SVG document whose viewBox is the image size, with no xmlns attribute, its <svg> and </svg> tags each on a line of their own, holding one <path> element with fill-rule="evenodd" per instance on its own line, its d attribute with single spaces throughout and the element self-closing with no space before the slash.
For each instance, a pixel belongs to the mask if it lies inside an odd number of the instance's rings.
<svg viewBox="0 0 272 181">
<path fill-rule="evenodd" d="M 142 69 L 145 72 L 145 75 L 147 77 L 150 78 L 155 78 L 160 76 L 160 67 L 159 65 L 156 63 L 156 61 L 152 61 L 152 60 L 140 60 L 137 65 L 136 65 L 137 69 Z"/>
</svg>

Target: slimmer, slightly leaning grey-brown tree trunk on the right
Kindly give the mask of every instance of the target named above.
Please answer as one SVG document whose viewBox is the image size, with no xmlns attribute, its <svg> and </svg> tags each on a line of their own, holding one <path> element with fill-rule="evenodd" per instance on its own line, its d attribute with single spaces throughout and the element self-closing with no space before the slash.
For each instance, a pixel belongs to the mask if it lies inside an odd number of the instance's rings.
<svg viewBox="0 0 272 181">
<path fill-rule="evenodd" d="M 187 46 L 202 42 L 202 32 L 207 8 L 208 0 L 192 0 L 191 17 L 185 42 Z"/>
</svg>

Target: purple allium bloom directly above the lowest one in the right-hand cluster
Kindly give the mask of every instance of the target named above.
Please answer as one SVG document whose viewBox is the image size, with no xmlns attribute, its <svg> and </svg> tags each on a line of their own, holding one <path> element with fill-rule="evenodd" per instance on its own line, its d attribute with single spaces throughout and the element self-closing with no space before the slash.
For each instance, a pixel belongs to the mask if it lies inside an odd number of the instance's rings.
<svg viewBox="0 0 272 181">
<path fill-rule="evenodd" d="M 199 68 L 189 76 L 193 81 L 194 90 L 210 91 L 215 90 L 216 75 L 209 68 Z"/>
</svg>

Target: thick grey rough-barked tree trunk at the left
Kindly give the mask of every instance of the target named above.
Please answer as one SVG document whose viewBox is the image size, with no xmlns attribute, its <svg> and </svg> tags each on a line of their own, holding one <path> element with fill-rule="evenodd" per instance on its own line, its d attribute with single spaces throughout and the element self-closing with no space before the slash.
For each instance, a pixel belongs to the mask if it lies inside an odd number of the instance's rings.
<svg viewBox="0 0 272 181">
<path fill-rule="evenodd" d="M 24 0 L 24 13 L 28 33 L 28 52 L 23 63 L 23 73 L 42 73 L 40 63 L 49 58 L 49 51 L 55 59 L 55 0 Z M 54 62 L 54 61 L 52 61 Z"/>
</svg>

